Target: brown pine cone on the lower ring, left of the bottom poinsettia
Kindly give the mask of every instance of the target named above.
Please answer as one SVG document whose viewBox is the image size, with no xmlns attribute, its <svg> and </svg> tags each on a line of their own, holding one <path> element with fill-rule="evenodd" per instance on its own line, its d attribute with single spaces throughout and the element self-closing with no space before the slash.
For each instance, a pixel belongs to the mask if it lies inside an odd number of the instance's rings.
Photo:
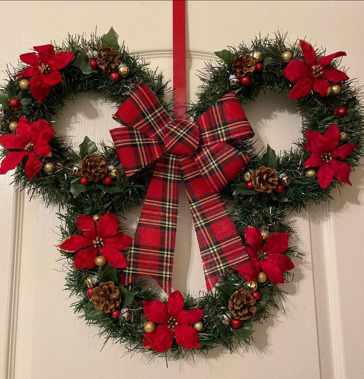
<svg viewBox="0 0 364 379">
<path fill-rule="evenodd" d="M 100 283 L 98 287 L 94 288 L 91 301 L 94 303 L 97 310 L 104 311 L 104 313 L 110 313 L 120 307 L 120 290 L 112 281 Z"/>
</svg>

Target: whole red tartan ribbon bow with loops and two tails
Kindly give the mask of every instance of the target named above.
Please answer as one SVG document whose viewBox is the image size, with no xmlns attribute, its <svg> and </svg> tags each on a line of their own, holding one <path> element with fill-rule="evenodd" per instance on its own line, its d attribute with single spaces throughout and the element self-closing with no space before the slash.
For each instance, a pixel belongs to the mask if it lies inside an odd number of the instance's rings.
<svg viewBox="0 0 364 379">
<path fill-rule="evenodd" d="M 211 290 L 223 271 L 252 273 L 248 253 L 219 195 L 250 159 L 228 141 L 254 135 L 234 93 L 228 93 L 196 122 L 171 120 L 147 85 L 120 106 L 110 130 L 127 177 L 156 162 L 122 275 L 122 283 L 151 275 L 170 294 L 183 177 Z"/>
</svg>

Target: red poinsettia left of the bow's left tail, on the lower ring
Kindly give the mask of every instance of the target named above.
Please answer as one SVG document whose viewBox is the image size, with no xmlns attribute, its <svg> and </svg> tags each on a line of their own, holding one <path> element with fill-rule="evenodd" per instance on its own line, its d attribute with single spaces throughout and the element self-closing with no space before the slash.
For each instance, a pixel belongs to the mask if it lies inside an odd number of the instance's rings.
<svg viewBox="0 0 364 379">
<path fill-rule="evenodd" d="M 131 245 L 132 239 L 123 233 L 118 233 L 119 221 L 115 213 L 105 213 L 99 218 L 97 232 L 95 221 L 89 215 L 83 214 L 77 218 L 77 228 L 82 235 L 73 235 L 63 241 L 61 250 L 76 253 L 74 258 L 75 268 L 94 268 L 98 252 L 107 262 L 116 268 L 126 267 L 124 250 Z"/>
</svg>

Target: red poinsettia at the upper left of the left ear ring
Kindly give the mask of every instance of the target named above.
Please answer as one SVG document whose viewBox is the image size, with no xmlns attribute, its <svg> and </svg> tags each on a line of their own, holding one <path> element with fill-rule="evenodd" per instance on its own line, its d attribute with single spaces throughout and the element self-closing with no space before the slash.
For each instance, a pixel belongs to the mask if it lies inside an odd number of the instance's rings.
<svg viewBox="0 0 364 379">
<path fill-rule="evenodd" d="M 36 53 L 26 53 L 20 60 L 29 66 L 15 76 L 32 77 L 30 79 L 30 93 L 40 103 L 49 96 L 53 86 L 62 81 L 58 70 L 71 63 L 74 54 L 69 51 L 54 53 L 52 45 L 34 46 Z"/>
</svg>

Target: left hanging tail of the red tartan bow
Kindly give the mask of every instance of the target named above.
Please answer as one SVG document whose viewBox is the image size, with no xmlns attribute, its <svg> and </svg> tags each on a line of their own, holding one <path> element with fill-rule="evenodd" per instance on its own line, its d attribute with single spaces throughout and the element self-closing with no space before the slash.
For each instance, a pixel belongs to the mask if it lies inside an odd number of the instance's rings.
<svg viewBox="0 0 364 379">
<path fill-rule="evenodd" d="M 157 160 L 128 264 L 122 274 L 122 284 L 150 275 L 170 294 L 180 180 L 176 155 L 165 154 Z"/>
</svg>

